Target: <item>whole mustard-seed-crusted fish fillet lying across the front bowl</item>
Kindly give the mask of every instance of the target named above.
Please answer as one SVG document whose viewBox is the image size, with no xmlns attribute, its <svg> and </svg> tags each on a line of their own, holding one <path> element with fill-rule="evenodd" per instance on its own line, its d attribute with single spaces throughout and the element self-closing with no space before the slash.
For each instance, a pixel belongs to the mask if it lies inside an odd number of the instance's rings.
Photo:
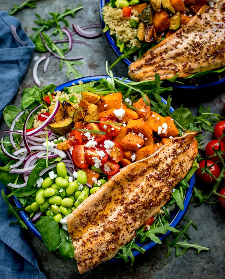
<svg viewBox="0 0 225 279">
<path fill-rule="evenodd" d="M 153 155 L 124 167 L 67 218 L 80 273 L 115 256 L 171 198 L 197 156 L 198 132 L 173 138 Z"/>
</svg>

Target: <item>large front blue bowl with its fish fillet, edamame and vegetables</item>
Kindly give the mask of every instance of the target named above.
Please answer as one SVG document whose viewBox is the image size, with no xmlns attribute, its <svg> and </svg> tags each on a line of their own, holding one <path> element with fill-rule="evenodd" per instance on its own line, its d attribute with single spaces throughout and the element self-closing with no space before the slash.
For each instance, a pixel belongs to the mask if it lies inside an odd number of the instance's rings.
<svg viewBox="0 0 225 279">
<path fill-rule="evenodd" d="M 135 256 L 161 243 L 169 232 L 178 232 L 175 227 L 194 188 L 194 137 L 198 132 L 183 133 L 190 127 L 182 120 L 180 109 L 171 107 L 170 97 L 166 101 L 160 96 L 171 88 L 160 85 L 157 75 L 155 81 L 133 82 L 108 71 L 108 76 L 83 77 L 58 87 L 27 88 L 22 92 L 21 108 L 4 109 L 9 128 L 2 131 L 0 154 L 5 166 L 1 167 L 1 182 L 10 193 L 2 191 L 2 197 L 24 229 L 29 228 L 57 257 L 75 259 L 80 273 L 106 260 L 131 259 L 133 264 Z M 183 111 L 188 118 L 190 112 Z M 188 160 L 179 155 L 179 148 Z M 189 158 L 187 150 L 195 155 L 188 153 Z M 161 175 L 158 163 L 161 170 L 167 170 Z M 151 179 L 155 186 L 150 185 Z M 154 198 L 145 197 L 144 187 L 153 187 Z M 135 215 L 143 210 L 144 219 L 130 227 L 134 205 L 138 207 Z M 114 224 L 122 216 L 126 231 L 133 234 L 123 245 L 117 243 L 122 228 L 114 226 L 113 232 L 107 212 Z M 90 229 L 91 215 L 95 222 Z M 83 217 L 87 220 L 82 221 Z M 104 234 L 98 235 L 100 224 Z M 91 261 L 96 263 L 84 267 L 77 251 L 83 247 L 83 235 L 88 239 L 91 231 L 94 238 L 85 247 L 92 245 L 92 251 L 96 241 L 109 245 L 109 240 L 104 242 L 107 230 L 117 249 L 104 257 L 98 257 L 96 251 Z"/>
</svg>

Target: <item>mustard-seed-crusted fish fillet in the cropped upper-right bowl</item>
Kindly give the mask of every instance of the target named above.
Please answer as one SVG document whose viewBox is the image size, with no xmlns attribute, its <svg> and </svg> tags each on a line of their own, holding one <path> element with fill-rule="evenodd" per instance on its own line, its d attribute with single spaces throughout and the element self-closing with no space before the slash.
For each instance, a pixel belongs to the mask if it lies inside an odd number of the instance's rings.
<svg viewBox="0 0 225 279">
<path fill-rule="evenodd" d="M 134 81 L 188 77 L 225 66 L 225 1 L 204 5 L 184 27 L 130 64 Z"/>
</svg>

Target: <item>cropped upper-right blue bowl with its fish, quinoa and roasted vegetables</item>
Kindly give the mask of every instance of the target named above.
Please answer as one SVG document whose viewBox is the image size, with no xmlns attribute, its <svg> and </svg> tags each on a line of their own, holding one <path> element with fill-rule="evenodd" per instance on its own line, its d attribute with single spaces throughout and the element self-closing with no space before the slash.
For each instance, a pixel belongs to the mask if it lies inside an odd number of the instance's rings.
<svg viewBox="0 0 225 279">
<path fill-rule="evenodd" d="M 215 12 L 217 18 L 223 17 L 222 2 L 100 0 L 103 32 L 118 55 L 110 68 L 122 60 L 132 80 L 153 80 L 157 72 L 165 85 L 174 88 L 222 84 L 224 45 L 214 34 L 221 32 L 214 25 L 217 26 Z"/>
</svg>

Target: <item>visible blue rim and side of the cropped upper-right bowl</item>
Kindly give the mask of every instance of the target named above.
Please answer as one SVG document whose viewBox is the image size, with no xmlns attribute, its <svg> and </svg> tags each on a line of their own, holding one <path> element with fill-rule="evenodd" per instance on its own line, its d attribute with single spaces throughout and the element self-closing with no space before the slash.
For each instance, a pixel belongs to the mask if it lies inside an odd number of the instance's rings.
<svg viewBox="0 0 225 279">
<path fill-rule="evenodd" d="M 109 2 L 109 0 L 99 0 L 99 13 L 100 13 L 100 18 L 101 18 L 103 28 L 105 27 L 105 22 L 103 20 L 102 8 L 108 2 Z M 122 53 L 119 51 L 119 48 L 117 47 L 116 42 L 113 39 L 113 37 L 109 34 L 109 31 L 105 32 L 104 34 L 105 34 L 110 46 L 112 47 L 113 51 L 116 53 L 116 55 L 118 57 L 121 56 Z M 122 59 L 122 61 L 125 65 L 127 65 L 129 67 L 129 65 L 134 60 L 132 58 L 124 58 L 124 59 Z M 179 83 L 176 83 L 176 82 L 169 82 L 169 81 L 164 80 L 163 81 L 163 86 L 164 85 L 165 86 L 172 86 L 173 88 L 176 88 L 176 89 L 204 89 L 204 88 L 219 86 L 219 85 L 221 85 L 225 82 L 225 77 L 220 78 L 220 79 L 215 77 L 213 81 L 212 80 L 210 81 L 210 79 L 208 80 L 208 77 L 206 79 L 207 79 L 206 82 L 201 80 L 201 83 L 199 83 L 198 86 L 191 84 L 188 81 L 188 79 L 187 79 L 187 82 L 185 84 L 179 84 Z"/>
</svg>

